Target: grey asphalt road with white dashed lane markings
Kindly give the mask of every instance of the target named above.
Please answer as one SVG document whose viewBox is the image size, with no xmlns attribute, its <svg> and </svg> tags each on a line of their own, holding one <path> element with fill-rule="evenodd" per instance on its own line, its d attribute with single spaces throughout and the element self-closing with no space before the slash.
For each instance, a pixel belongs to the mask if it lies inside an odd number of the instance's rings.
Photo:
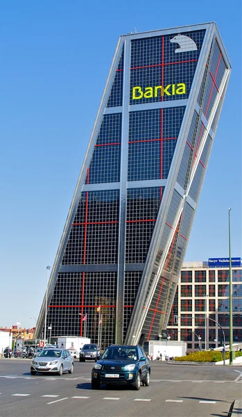
<svg viewBox="0 0 242 417">
<path fill-rule="evenodd" d="M 150 386 L 91 387 L 94 362 L 74 374 L 30 374 L 28 359 L 0 359 L 1 417 L 225 417 L 241 398 L 242 367 L 151 361 Z"/>
</svg>

